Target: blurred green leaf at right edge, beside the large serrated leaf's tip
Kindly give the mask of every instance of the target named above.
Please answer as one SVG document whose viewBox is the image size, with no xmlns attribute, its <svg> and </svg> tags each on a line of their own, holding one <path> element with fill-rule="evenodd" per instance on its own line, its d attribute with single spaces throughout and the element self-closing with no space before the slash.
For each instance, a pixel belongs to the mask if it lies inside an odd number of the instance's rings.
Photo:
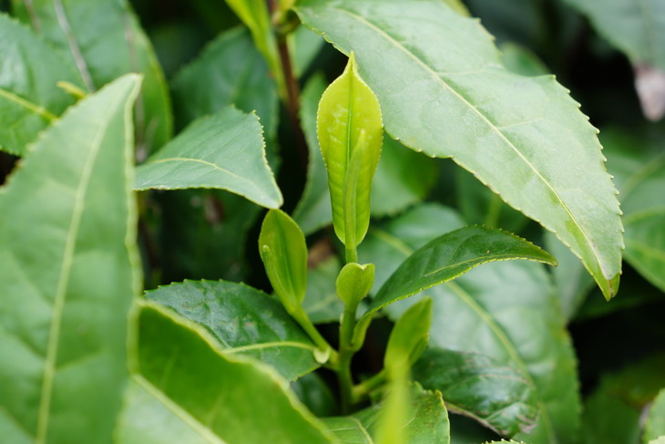
<svg viewBox="0 0 665 444">
<path fill-rule="evenodd" d="M 646 131 L 645 131 L 646 132 Z M 662 137 L 604 133 L 608 167 L 625 212 L 626 260 L 651 284 L 665 290 L 665 155 Z"/>
</svg>

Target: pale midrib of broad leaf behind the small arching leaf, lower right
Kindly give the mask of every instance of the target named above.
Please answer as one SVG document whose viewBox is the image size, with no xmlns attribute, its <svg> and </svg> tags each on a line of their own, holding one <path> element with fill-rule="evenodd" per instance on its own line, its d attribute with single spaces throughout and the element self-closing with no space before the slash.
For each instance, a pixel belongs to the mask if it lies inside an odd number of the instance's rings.
<svg viewBox="0 0 665 444">
<path fill-rule="evenodd" d="M 378 230 L 377 230 L 378 231 Z M 413 254 L 415 250 L 411 248 L 409 245 L 406 243 L 402 242 L 401 240 L 395 238 L 392 233 L 386 232 L 384 230 L 380 231 L 384 237 L 384 239 L 387 238 L 392 238 L 392 246 L 395 248 L 400 253 L 405 253 L 409 252 L 410 254 Z M 445 285 L 448 285 L 450 289 L 457 294 L 457 296 L 462 299 L 468 305 L 476 314 L 486 323 L 486 325 L 489 326 L 489 328 L 492 330 L 492 333 L 495 334 L 496 338 L 498 341 L 504 346 L 506 349 L 506 352 L 508 355 L 516 362 L 517 367 L 519 371 L 524 375 L 524 377 L 527 379 L 527 381 L 534 387 L 537 393 L 537 404 L 538 404 L 538 411 L 542 413 L 542 418 L 544 419 L 546 428 L 547 428 L 547 436 L 550 439 L 551 443 L 557 443 L 558 438 L 556 433 L 554 432 L 554 426 L 552 424 L 552 419 L 549 417 L 549 412 L 547 411 L 547 408 L 545 408 L 545 402 L 542 400 L 540 396 L 539 389 L 534 382 L 533 377 L 531 376 L 531 373 L 529 373 L 527 369 L 527 365 L 525 364 L 524 360 L 522 359 L 521 356 L 517 353 L 517 350 L 515 347 L 512 345 L 510 340 L 507 338 L 506 334 L 504 331 L 501 329 L 499 325 L 496 325 L 496 323 L 493 321 L 492 317 L 486 313 L 486 310 L 476 304 L 476 301 L 474 301 L 473 297 L 466 293 L 466 291 L 459 285 L 455 284 L 454 282 L 447 282 Z"/>
</svg>

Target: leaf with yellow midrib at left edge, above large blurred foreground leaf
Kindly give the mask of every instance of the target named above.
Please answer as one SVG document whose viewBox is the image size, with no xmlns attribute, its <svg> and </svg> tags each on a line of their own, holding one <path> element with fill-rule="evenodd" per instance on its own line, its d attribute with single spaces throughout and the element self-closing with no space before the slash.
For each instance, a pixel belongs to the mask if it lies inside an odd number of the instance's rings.
<svg viewBox="0 0 665 444">
<path fill-rule="evenodd" d="M 80 85 L 76 68 L 26 27 L 0 14 L 0 149 L 16 155 L 74 103 L 57 88 Z M 44 69 L 48 67 L 48 69 Z"/>
</svg>

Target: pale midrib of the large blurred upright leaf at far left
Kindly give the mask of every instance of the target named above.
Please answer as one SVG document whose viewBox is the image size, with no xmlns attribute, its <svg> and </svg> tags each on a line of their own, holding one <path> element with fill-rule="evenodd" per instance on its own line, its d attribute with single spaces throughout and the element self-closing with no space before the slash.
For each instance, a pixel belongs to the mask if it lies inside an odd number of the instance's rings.
<svg viewBox="0 0 665 444">
<path fill-rule="evenodd" d="M 95 139 L 91 143 L 91 149 L 88 151 L 88 157 L 84 168 L 81 173 L 81 179 L 78 182 L 76 195 L 74 198 L 74 209 L 72 211 L 69 229 L 67 231 L 67 240 L 65 242 L 65 250 L 63 253 L 62 264 L 60 273 L 58 275 L 56 294 L 53 301 L 53 317 L 49 328 L 48 343 L 46 346 L 46 360 L 44 363 L 43 381 L 41 396 L 39 399 L 39 409 L 37 414 L 36 426 L 36 444 L 46 443 L 46 436 L 48 433 L 48 419 L 51 408 L 51 396 L 53 395 L 54 378 L 56 373 L 56 359 L 58 353 L 58 346 L 60 341 L 61 321 L 63 311 L 65 309 L 65 302 L 67 296 L 67 286 L 69 284 L 69 277 L 71 274 L 72 263 L 74 261 L 74 253 L 76 251 L 78 229 L 83 217 L 85 206 L 85 198 L 87 194 L 87 187 L 92 176 L 92 170 L 97 160 L 97 155 L 101 148 L 101 141 L 107 133 L 110 124 L 111 116 L 116 112 L 118 105 L 122 103 L 123 97 L 120 96 L 116 103 L 109 107 L 105 115 L 104 122 L 97 130 Z"/>
</svg>

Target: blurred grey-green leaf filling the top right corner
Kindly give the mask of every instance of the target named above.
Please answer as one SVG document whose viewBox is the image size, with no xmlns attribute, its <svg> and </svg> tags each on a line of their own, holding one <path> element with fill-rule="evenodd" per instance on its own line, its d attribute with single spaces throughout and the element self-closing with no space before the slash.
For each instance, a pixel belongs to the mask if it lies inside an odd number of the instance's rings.
<svg viewBox="0 0 665 444">
<path fill-rule="evenodd" d="M 660 0 L 567 0 L 633 64 L 665 69 L 665 4 Z"/>
</svg>

